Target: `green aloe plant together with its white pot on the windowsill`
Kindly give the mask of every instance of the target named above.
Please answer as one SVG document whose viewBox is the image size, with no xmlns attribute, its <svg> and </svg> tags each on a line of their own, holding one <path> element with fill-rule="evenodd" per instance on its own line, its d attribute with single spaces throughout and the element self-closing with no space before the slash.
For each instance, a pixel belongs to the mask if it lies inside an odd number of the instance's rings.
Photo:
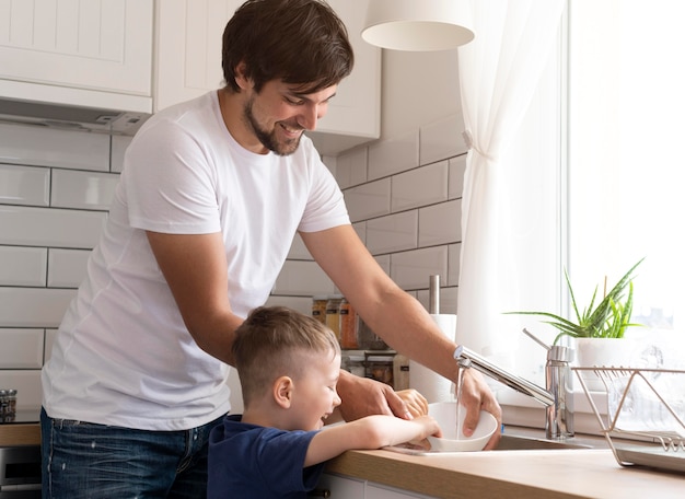
<svg viewBox="0 0 685 499">
<path fill-rule="evenodd" d="M 557 344 L 564 336 L 574 338 L 577 365 L 581 367 L 629 367 L 635 344 L 624 339 L 632 315 L 632 272 L 645 258 L 635 264 L 597 302 L 595 287 L 590 304 L 580 311 L 568 272 L 564 271 L 571 298 L 574 321 L 549 312 L 510 312 L 512 314 L 537 315 L 559 330 L 554 339 Z M 606 280 L 605 280 L 606 289 Z M 596 303 L 596 304 L 595 304 Z M 620 340 L 620 341 L 617 341 Z M 591 390 L 602 390 L 600 382 L 589 381 Z"/>
</svg>

